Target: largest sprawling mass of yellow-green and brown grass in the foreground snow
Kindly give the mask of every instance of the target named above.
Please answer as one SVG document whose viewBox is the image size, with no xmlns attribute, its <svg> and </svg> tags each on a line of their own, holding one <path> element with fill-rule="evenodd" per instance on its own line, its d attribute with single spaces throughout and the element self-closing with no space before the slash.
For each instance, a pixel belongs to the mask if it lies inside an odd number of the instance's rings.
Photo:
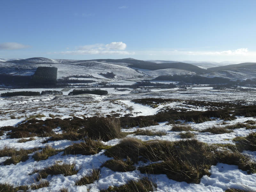
<svg viewBox="0 0 256 192">
<path fill-rule="evenodd" d="M 207 145 L 196 139 L 175 142 L 152 140 L 143 142 L 138 139 L 125 138 L 116 146 L 106 150 L 105 154 L 114 159 L 130 158 L 157 162 L 140 167 L 142 173 L 166 174 L 169 179 L 199 183 L 203 175 L 209 175 L 209 169 L 218 162 L 238 165 L 244 171 L 256 172 L 256 164 L 241 153 L 217 150 L 214 145 Z"/>
</svg>

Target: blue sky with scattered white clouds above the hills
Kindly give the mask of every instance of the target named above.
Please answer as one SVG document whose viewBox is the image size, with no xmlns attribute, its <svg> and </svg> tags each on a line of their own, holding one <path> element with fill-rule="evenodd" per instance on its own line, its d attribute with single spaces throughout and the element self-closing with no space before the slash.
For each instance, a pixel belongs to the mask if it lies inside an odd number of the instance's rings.
<svg viewBox="0 0 256 192">
<path fill-rule="evenodd" d="M 256 62 L 255 0 L 0 2 L 0 57 Z"/>
</svg>

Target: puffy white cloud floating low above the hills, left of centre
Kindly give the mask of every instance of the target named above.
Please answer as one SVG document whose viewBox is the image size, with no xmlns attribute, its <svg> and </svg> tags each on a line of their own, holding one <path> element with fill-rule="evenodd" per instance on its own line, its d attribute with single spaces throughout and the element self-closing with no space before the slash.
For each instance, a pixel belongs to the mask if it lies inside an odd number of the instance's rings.
<svg viewBox="0 0 256 192">
<path fill-rule="evenodd" d="M 126 44 L 123 42 L 112 42 L 110 44 L 92 44 L 77 46 L 75 51 L 63 51 L 63 54 L 84 55 L 84 54 L 116 54 L 132 55 L 134 52 L 124 51 Z"/>
</svg>

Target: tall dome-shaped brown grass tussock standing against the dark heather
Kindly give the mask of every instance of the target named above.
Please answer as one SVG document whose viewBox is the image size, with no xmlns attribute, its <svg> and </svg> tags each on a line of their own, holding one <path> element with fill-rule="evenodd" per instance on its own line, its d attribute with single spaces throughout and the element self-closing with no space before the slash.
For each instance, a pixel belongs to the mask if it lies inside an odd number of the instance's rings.
<svg viewBox="0 0 256 192">
<path fill-rule="evenodd" d="M 121 132 L 120 122 L 115 117 L 89 117 L 85 121 L 84 128 L 79 132 L 94 140 L 101 139 L 103 141 L 126 136 Z"/>
</svg>

